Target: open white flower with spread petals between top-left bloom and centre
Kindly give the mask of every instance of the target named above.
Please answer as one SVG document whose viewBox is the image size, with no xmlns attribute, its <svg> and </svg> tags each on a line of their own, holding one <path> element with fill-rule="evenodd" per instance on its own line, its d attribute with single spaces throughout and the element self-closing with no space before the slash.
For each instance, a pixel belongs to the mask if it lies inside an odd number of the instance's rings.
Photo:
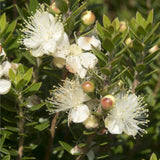
<svg viewBox="0 0 160 160">
<path fill-rule="evenodd" d="M 71 45 L 71 53 L 66 58 L 66 68 L 77 73 L 81 78 L 84 78 L 88 69 L 93 69 L 98 62 L 97 57 L 90 52 L 82 52 L 80 46 Z"/>
</svg>

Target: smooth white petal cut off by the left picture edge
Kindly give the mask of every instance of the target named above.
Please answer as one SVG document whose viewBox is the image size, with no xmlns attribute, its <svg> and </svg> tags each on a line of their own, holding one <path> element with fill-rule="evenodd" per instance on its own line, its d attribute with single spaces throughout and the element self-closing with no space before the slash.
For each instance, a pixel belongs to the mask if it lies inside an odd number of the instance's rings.
<svg viewBox="0 0 160 160">
<path fill-rule="evenodd" d="M 11 82 L 5 79 L 0 79 L 0 94 L 7 94 L 11 88 Z"/>
</svg>

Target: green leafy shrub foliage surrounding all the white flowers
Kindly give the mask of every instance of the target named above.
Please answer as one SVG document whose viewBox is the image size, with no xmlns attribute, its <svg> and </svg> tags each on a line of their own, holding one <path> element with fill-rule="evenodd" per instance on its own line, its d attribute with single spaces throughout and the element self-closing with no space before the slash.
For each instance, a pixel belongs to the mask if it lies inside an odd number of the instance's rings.
<svg viewBox="0 0 160 160">
<path fill-rule="evenodd" d="M 58 11 L 49 0 L 0 3 L 0 52 L 3 49 L 6 53 L 0 56 L 0 65 L 5 61 L 15 65 L 0 74 L 0 79 L 11 82 L 10 91 L 0 95 L 2 160 L 160 157 L 159 0 L 55 0 Z M 56 97 L 51 98 L 53 88 L 63 86 L 63 81 L 74 74 L 67 67 L 56 66 L 52 55 L 34 56 L 21 41 L 26 21 L 36 13 L 39 3 L 44 3 L 53 16 L 58 14 L 71 44 L 82 36 L 95 35 L 100 40 L 101 47 L 92 45 L 90 51 L 98 59 L 96 70 L 88 69 L 89 78 L 78 79 L 94 83 L 96 90 L 88 94 L 91 98 L 101 99 L 115 88 L 143 96 L 149 109 L 150 122 L 144 127 L 147 134 L 106 134 L 103 118 L 99 118 L 98 127 L 87 129 L 81 123 L 69 124 L 66 112 L 52 113 L 50 101 Z M 82 22 L 81 14 L 86 10 L 95 14 L 93 24 Z M 78 148 L 76 154 L 71 154 L 73 148 Z"/>
</svg>

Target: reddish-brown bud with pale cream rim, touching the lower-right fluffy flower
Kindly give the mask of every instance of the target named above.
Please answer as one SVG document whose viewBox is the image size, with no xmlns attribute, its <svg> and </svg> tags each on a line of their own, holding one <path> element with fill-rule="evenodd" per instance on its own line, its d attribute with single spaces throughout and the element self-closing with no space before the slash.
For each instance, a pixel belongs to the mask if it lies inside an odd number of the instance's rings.
<svg viewBox="0 0 160 160">
<path fill-rule="evenodd" d="M 101 99 L 101 105 L 104 110 L 110 109 L 115 104 L 115 97 L 112 95 L 106 95 Z"/>
</svg>

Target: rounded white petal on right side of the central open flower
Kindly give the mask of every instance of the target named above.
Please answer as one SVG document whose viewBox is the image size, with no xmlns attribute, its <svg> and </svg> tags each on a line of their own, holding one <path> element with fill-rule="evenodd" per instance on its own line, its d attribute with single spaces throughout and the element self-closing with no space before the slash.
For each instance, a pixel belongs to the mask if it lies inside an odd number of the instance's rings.
<svg viewBox="0 0 160 160">
<path fill-rule="evenodd" d="M 81 54 L 81 64 L 86 68 L 86 69 L 92 69 L 95 67 L 95 65 L 98 62 L 97 57 L 89 52 Z"/>
</svg>

